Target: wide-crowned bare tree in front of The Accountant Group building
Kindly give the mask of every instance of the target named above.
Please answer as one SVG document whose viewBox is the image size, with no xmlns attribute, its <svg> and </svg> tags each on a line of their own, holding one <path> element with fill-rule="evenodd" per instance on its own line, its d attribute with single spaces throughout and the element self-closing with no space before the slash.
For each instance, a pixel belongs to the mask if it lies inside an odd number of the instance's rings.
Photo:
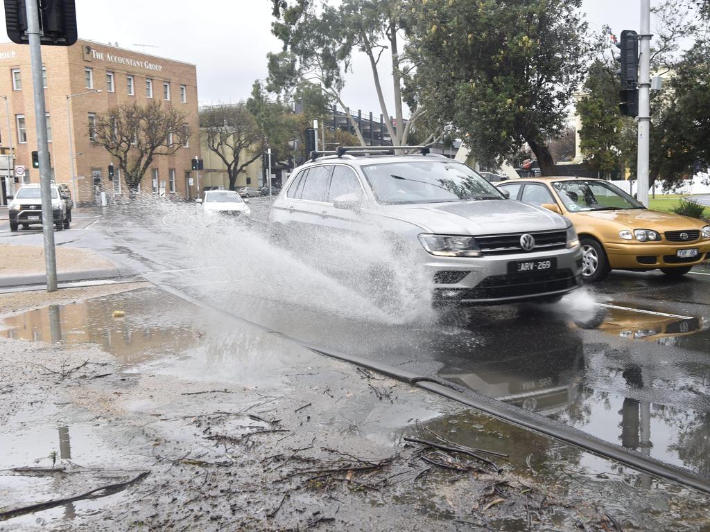
<svg viewBox="0 0 710 532">
<path fill-rule="evenodd" d="M 89 138 L 119 161 L 131 194 L 159 155 L 173 155 L 187 143 L 187 115 L 151 101 L 146 106 L 123 104 L 97 115 L 89 123 Z"/>
</svg>

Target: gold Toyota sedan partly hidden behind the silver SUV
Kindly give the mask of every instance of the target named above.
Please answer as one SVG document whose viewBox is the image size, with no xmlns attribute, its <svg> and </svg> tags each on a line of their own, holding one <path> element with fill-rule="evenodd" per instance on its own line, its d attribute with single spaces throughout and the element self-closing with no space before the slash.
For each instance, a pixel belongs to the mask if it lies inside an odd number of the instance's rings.
<svg viewBox="0 0 710 532">
<path fill-rule="evenodd" d="M 610 270 L 660 269 L 672 277 L 710 259 L 710 226 L 679 214 L 650 211 L 603 179 L 535 177 L 497 185 L 527 204 L 567 216 L 584 253 L 582 278 L 598 281 Z"/>
</svg>

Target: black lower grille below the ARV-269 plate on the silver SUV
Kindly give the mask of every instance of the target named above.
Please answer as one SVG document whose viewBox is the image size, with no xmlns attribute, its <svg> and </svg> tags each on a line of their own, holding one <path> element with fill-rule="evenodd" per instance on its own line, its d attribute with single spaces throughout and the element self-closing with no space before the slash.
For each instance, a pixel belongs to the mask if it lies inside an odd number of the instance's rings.
<svg viewBox="0 0 710 532">
<path fill-rule="evenodd" d="M 461 292 L 461 299 L 499 299 L 534 296 L 574 288 L 578 280 L 571 270 L 529 272 L 525 275 L 493 275 L 475 288 Z"/>
</svg>

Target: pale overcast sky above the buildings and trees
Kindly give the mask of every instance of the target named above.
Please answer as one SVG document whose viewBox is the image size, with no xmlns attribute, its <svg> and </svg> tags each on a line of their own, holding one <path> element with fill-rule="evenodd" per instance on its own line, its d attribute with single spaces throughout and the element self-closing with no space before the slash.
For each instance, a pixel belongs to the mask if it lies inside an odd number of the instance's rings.
<svg viewBox="0 0 710 532">
<path fill-rule="evenodd" d="M 197 65 L 200 104 L 249 98 L 254 80 L 266 77 L 267 52 L 280 50 L 271 35 L 271 0 L 75 2 L 80 38 Z M 639 29 L 640 0 L 582 0 L 582 9 L 590 31 L 605 24 L 616 35 Z M 4 11 L 0 16 L 4 27 Z M 8 42 L 1 33 L 0 42 Z M 354 58 L 343 99 L 351 109 L 379 114 L 366 57 Z"/>
</svg>

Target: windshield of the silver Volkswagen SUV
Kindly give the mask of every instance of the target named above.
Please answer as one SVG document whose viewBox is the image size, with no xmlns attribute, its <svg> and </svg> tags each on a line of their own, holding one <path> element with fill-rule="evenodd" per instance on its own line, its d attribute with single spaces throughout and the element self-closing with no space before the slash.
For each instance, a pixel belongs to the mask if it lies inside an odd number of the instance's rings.
<svg viewBox="0 0 710 532">
<path fill-rule="evenodd" d="M 504 199 L 496 187 L 460 162 L 385 162 L 362 169 L 381 204 Z"/>
</svg>

